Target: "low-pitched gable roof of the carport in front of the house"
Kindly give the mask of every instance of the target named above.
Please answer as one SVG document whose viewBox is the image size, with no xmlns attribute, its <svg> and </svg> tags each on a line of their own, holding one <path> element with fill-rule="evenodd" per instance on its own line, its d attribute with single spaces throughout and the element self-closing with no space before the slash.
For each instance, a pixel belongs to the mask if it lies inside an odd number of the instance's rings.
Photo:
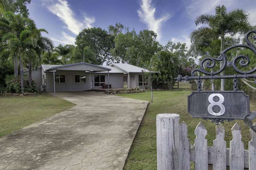
<svg viewBox="0 0 256 170">
<path fill-rule="evenodd" d="M 76 71 L 93 71 L 93 72 L 99 72 L 99 71 L 110 71 L 110 68 L 97 66 L 90 63 L 73 63 L 73 64 L 66 64 L 66 65 L 56 65 L 52 66 L 51 68 L 47 68 L 44 71 L 51 71 L 51 70 L 76 70 Z"/>
</svg>

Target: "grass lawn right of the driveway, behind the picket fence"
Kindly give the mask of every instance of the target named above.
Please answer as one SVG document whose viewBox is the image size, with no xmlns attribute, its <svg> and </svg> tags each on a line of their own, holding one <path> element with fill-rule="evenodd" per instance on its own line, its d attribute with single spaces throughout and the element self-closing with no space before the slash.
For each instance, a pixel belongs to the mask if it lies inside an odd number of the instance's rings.
<svg viewBox="0 0 256 170">
<path fill-rule="evenodd" d="M 215 139 L 216 124 L 211 121 L 202 120 L 199 118 L 192 118 L 187 113 L 187 96 L 190 90 L 186 89 L 189 85 L 184 85 L 180 89 L 172 91 L 153 91 L 153 103 L 148 106 L 147 112 L 144 115 L 139 131 L 132 144 L 129 156 L 124 169 L 156 169 L 156 115 L 160 113 L 176 113 L 180 115 L 180 122 L 185 121 L 188 125 L 188 137 L 190 144 L 194 144 L 196 138 L 194 130 L 197 124 L 202 121 L 208 131 L 206 138 L 208 139 L 208 146 L 212 146 Z M 122 94 L 118 95 L 140 100 L 151 100 L 151 92 L 137 93 L 137 94 Z M 251 110 L 256 110 L 256 102 L 251 101 Z M 249 128 L 243 121 L 236 121 L 242 129 L 242 140 L 244 146 L 248 148 L 248 141 L 250 139 Z M 234 122 L 225 122 L 225 140 L 227 141 L 227 148 L 229 148 L 229 141 L 232 140 L 231 128 Z"/>
</svg>

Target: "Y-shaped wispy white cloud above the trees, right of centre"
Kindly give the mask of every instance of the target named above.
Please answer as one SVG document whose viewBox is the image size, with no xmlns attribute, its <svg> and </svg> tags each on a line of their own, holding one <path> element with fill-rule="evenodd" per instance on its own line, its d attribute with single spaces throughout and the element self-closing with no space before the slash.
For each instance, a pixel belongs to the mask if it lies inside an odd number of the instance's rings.
<svg viewBox="0 0 256 170">
<path fill-rule="evenodd" d="M 147 24 L 148 29 L 157 33 L 157 39 L 161 38 L 161 24 L 170 19 L 170 14 L 164 14 L 160 18 L 155 18 L 156 8 L 152 5 L 151 0 L 141 0 L 138 15 L 140 19 Z"/>
</svg>

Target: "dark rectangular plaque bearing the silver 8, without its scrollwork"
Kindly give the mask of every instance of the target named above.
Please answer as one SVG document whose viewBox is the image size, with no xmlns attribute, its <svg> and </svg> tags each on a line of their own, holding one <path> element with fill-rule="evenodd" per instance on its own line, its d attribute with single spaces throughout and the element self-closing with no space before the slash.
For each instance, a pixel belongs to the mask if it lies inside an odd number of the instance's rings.
<svg viewBox="0 0 256 170">
<path fill-rule="evenodd" d="M 244 119 L 249 108 L 243 91 L 193 91 L 188 96 L 188 113 L 196 118 Z"/>
</svg>

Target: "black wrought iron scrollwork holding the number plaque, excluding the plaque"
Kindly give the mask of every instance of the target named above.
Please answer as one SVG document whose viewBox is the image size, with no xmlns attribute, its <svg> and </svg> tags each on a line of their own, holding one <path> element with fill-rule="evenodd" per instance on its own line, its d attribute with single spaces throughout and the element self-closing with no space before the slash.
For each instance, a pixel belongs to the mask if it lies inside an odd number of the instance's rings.
<svg viewBox="0 0 256 170">
<path fill-rule="evenodd" d="M 252 34 L 254 34 L 254 36 L 251 36 Z M 200 68 L 199 69 L 193 69 L 191 71 L 191 76 L 185 76 L 182 77 L 181 75 L 179 75 L 176 80 L 178 81 L 188 81 L 188 80 L 197 80 L 197 86 L 198 86 L 198 91 L 201 91 L 201 80 L 202 79 L 233 79 L 233 90 L 235 92 L 238 91 L 238 84 L 237 84 L 237 79 L 240 78 L 255 78 L 256 79 L 256 67 L 253 69 L 250 69 L 248 71 L 243 71 L 240 70 L 238 66 L 240 67 L 246 67 L 250 64 L 250 58 L 246 55 L 237 55 L 236 57 L 234 57 L 231 61 L 227 60 L 227 56 L 226 53 L 228 51 L 230 51 L 231 49 L 234 48 L 244 48 L 244 49 L 249 49 L 251 50 L 256 57 L 256 47 L 253 45 L 253 43 L 255 44 L 255 42 L 251 42 L 250 41 L 250 37 L 253 40 L 256 40 L 256 30 L 252 30 L 249 31 L 245 34 L 245 42 L 246 44 L 239 44 L 239 45 L 233 45 L 231 47 L 226 48 L 225 50 L 223 50 L 220 55 L 218 57 L 206 57 L 204 58 L 201 63 L 200 63 Z M 218 68 L 217 71 L 213 71 L 213 69 L 216 66 L 216 62 L 219 62 L 220 68 Z M 222 73 L 226 67 L 232 67 L 238 74 L 234 74 L 234 75 L 217 75 Z M 205 68 L 211 69 L 211 72 L 207 71 Z M 202 73 L 203 75 L 200 76 L 196 76 L 196 72 L 198 73 Z M 256 81 L 255 81 L 256 83 Z M 233 92 L 234 92 L 233 91 Z M 211 91 L 214 92 L 214 91 Z M 194 116 L 193 116 L 194 117 Z M 197 116 L 199 117 L 199 116 Z M 212 118 L 204 118 L 203 119 L 209 119 L 212 122 L 215 122 L 216 124 L 218 124 L 219 122 L 224 122 L 226 121 L 232 121 L 233 119 L 229 119 L 229 118 L 225 118 L 222 119 L 221 117 L 212 117 Z M 250 114 L 248 116 L 245 117 L 244 122 L 252 129 L 256 132 L 256 127 L 252 125 L 252 120 L 256 118 L 256 112 L 250 112 Z"/>
</svg>

